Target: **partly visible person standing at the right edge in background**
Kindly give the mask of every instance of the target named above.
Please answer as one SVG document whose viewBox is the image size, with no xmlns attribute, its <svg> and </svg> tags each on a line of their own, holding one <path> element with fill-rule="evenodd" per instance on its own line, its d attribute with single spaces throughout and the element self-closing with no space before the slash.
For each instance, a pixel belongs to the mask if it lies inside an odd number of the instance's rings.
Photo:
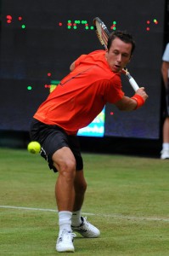
<svg viewBox="0 0 169 256">
<path fill-rule="evenodd" d="M 161 73 L 166 89 L 166 119 L 163 124 L 163 143 L 161 150 L 161 159 L 169 159 L 169 43 L 162 56 Z"/>
</svg>

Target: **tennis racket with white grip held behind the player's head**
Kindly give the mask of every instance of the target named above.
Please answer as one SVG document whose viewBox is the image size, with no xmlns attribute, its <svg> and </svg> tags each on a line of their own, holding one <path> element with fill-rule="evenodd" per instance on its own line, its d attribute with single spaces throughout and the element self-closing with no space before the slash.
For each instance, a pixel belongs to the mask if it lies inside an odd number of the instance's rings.
<svg viewBox="0 0 169 256">
<path fill-rule="evenodd" d="M 100 44 L 103 45 L 104 49 L 107 49 L 108 38 L 110 36 L 109 30 L 105 26 L 104 22 L 99 19 L 99 17 L 93 19 L 93 25 L 96 34 L 99 38 Z M 127 68 L 123 68 L 122 73 L 124 73 L 127 76 L 127 79 L 129 83 L 132 85 L 133 90 L 138 90 L 139 86 L 136 83 L 136 81 L 132 78 L 131 74 L 127 71 Z"/>
</svg>

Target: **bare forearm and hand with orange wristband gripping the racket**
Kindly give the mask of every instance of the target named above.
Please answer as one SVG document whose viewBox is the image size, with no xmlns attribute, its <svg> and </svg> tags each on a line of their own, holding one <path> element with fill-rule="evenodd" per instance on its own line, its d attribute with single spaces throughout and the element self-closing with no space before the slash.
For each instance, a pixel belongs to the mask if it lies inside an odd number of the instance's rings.
<svg viewBox="0 0 169 256">
<path fill-rule="evenodd" d="M 145 92 L 144 87 L 141 87 L 136 91 L 136 94 L 131 98 L 128 96 L 123 96 L 120 101 L 115 103 L 115 106 L 121 111 L 132 111 L 141 108 L 144 105 L 147 98 L 148 95 Z"/>
</svg>

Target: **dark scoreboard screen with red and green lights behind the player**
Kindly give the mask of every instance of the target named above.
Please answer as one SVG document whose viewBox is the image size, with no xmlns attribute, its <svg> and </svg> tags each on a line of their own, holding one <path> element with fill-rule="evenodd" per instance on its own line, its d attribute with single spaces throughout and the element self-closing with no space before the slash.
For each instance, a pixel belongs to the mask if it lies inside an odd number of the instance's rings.
<svg viewBox="0 0 169 256">
<path fill-rule="evenodd" d="M 131 113 L 107 104 L 79 136 L 159 138 L 164 0 L 2 0 L 0 10 L 1 131 L 29 131 L 33 114 L 70 72 L 72 61 L 102 49 L 93 28 L 99 16 L 110 32 L 125 30 L 135 38 L 128 69 L 149 100 Z M 134 94 L 125 76 L 122 86 L 127 96 Z"/>
</svg>

